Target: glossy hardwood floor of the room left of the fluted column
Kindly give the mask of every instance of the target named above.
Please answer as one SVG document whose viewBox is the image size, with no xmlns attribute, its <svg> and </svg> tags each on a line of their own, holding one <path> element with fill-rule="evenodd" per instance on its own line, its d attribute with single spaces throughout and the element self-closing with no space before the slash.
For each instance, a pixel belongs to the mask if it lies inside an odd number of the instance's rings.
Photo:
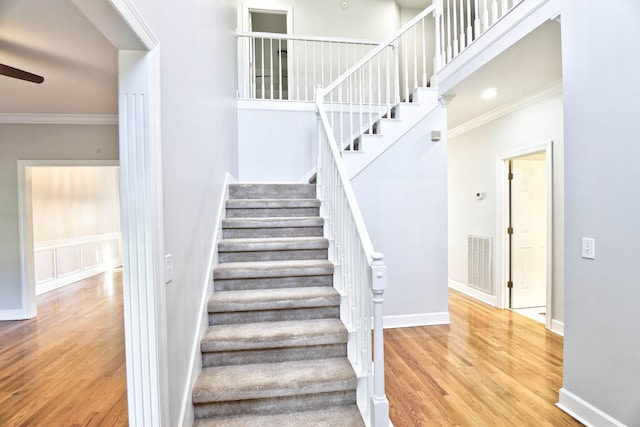
<svg viewBox="0 0 640 427">
<path fill-rule="evenodd" d="M 122 273 L 38 297 L 0 322 L 0 426 L 126 426 Z"/>
</svg>

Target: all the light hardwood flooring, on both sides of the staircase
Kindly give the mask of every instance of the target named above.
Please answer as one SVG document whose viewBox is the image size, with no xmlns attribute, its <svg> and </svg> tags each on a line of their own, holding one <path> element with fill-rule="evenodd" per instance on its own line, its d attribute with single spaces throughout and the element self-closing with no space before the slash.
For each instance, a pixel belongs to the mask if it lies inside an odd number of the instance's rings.
<svg viewBox="0 0 640 427">
<path fill-rule="evenodd" d="M 449 293 L 451 325 L 385 331 L 391 420 L 405 426 L 579 426 L 554 406 L 562 338 Z M 125 426 L 122 277 L 41 295 L 0 322 L 0 426 Z"/>
</svg>

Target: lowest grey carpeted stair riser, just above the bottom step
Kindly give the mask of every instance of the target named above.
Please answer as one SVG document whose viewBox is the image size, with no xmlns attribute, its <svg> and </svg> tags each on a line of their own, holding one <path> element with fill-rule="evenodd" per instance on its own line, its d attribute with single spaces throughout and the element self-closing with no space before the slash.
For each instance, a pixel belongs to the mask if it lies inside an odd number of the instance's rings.
<svg viewBox="0 0 640 427">
<path fill-rule="evenodd" d="M 287 396 L 267 399 L 239 400 L 194 405 L 195 419 L 233 415 L 282 414 L 295 411 L 310 411 L 338 405 L 356 403 L 353 390 L 317 393 L 301 396 Z"/>
</svg>

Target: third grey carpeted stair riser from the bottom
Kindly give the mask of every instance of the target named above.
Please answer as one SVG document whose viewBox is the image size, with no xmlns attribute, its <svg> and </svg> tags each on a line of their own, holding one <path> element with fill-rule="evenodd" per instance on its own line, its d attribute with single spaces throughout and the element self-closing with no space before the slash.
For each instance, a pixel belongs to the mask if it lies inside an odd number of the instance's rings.
<svg viewBox="0 0 640 427">
<path fill-rule="evenodd" d="M 210 325 L 234 323 L 278 322 L 284 320 L 338 319 L 340 307 L 305 307 L 285 310 L 234 311 L 209 313 Z"/>
</svg>

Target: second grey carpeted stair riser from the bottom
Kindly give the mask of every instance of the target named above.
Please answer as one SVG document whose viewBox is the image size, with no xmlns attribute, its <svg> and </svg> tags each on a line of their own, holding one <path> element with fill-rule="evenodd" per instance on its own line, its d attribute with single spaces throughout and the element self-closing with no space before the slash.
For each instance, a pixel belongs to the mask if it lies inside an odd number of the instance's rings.
<svg viewBox="0 0 640 427">
<path fill-rule="evenodd" d="M 306 347 L 203 353 L 202 364 L 203 367 L 209 368 L 212 366 L 275 363 L 292 360 L 315 360 L 346 356 L 346 343 L 341 343 Z"/>
</svg>

